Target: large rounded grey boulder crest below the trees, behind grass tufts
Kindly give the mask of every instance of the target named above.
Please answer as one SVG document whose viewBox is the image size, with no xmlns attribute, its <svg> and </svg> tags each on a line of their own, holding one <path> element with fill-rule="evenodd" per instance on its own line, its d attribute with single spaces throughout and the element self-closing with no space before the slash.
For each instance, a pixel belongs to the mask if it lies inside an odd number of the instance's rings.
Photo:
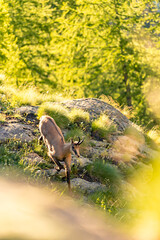
<svg viewBox="0 0 160 240">
<path fill-rule="evenodd" d="M 106 113 L 115 125 L 118 131 L 123 132 L 128 126 L 132 125 L 119 110 L 111 106 L 110 104 L 96 98 L 75 99 L 61 102 L 69 109 L 80 108 L 87 111 L 90 115 L 90 119 L 94 120 L 98 118 L 102 113 Z"/>
</svg>

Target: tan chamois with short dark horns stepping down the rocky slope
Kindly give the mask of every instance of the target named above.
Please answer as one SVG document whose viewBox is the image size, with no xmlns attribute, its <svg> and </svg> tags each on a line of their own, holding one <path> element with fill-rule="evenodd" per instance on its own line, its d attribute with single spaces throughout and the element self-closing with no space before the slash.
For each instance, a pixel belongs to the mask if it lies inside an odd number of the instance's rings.
<svg viewBox="0 0 160 240">
<path fill-rule="evenodd" d="M 60 161 L 65 163 L 65 172 L 67 177 L 67 183 L 69 190 L 71 190 L 70 185 L 70 171 L 71 171 L 71 153 L 80 157 L 79 145 L 83 142 L 78 137 L 78 141 L 74 142 L 73 139 L 71 143 L 65 143 L 61 129 L 57 126 L 56 122 L 50 116 L 42 116 L 39 122 L 39 130 L 41 136 L 39 142 L 44 141 L 48 148 L 48 156 L 56 164 L 56 169 L 60 171 L 64 169 L 64 166 Z"/>
</svg>

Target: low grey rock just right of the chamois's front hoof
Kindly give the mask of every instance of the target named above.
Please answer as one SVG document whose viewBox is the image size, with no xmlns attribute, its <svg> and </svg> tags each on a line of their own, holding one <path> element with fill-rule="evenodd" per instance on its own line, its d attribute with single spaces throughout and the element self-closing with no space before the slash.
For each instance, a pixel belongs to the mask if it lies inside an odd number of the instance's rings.
<svg viewBox="0 0 160 240">
<path fill-rule="evenodd" d="M 73 178 L 71 180 L 71 186 L 73 189 L 77 189 L 83 194 L 91 194 L 97 190 L 104 190 L 105 186 L 97 182 L 88 182 L 81 178 Z"/>
</svg>

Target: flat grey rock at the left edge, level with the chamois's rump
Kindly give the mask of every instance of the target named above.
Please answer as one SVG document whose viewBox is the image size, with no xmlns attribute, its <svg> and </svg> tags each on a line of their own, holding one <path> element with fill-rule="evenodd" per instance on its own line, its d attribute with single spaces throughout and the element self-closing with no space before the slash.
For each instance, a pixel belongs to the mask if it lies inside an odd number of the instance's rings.
<svg viewBox="0 0 160 240">
<path fill-rule="evenodd" d="M 34 128 L 22 123 L 8 123 L 0 128 L 0 141 L 20 140 L 22 142 L 30 142 L 34 139 Z"/>
</svg>

